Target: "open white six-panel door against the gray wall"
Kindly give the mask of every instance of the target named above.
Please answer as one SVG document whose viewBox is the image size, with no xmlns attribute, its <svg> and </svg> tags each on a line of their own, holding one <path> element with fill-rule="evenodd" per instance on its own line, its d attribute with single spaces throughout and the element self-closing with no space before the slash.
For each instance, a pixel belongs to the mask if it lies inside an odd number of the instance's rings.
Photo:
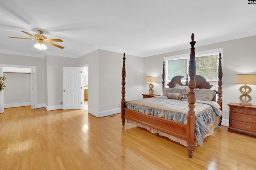
<svg viewBox="0 0 256 170">
<path fill-rule="evenodd" d="M 82 109 L 82 68 L 63 67 L 63 109 Z"/>
</svg>

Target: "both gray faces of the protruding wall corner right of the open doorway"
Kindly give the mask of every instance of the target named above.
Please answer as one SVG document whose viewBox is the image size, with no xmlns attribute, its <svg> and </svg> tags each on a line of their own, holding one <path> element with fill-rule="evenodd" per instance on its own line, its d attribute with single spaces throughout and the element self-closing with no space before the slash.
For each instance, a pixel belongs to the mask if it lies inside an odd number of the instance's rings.
<svg viewBox="0 0 256 170">
<path fill-rule="evenodd" d="M 102 116 L 105 111 L 120 108 L 122 57 L 121 53 L 96 50 L 77 59 L 80 66 L 88 64 L 89 113 Z M 143 58 L 126 55 L 126 69 L 126 100 L 142 98 Z"/>
</svg>

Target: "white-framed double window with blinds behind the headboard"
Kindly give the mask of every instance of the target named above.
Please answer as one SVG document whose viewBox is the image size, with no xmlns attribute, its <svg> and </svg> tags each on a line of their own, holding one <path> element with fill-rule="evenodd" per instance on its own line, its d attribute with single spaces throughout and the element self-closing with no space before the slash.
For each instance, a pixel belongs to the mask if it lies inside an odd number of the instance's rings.
<svg viewBox="0 0 256 170">
<path fill-rule="evenodd" d="M 196 55 L 196 74 L 203 76 L 206 80 L 213 85 L 212 90 L 217 90 L 218 83 L 218 54 L 221 52 L 207 53 L 209 51 L 201 52 Z M 166 57 L 166 84 L 168 84 L 174 76 L 181 75 L 182 83 L 185 84 L 186 76 L 188 74 L 190 54 L 183 56 Z M 189 77 L 189 76 L 188 76 Z M 188 80 L 189 81 L 189 80 Z"/>
</svg>

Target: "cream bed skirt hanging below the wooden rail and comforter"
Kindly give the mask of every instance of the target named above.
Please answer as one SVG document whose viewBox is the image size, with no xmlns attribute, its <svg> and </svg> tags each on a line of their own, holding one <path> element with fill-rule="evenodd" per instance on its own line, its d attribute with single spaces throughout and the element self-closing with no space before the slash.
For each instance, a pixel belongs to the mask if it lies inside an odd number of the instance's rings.
<svg viewBox="0 0 256 170">
<path fill-rule="evenodd" d="M 168 135 L 167 133 L 163 133 L 163 132 L 161 132 L 161 131 L 158 131 L 158 130 L 156 130 L 156 129 L 152 129 L 152 128 L 150 128 L 150 127 L 147 127 L 147 126 L 142 125 L 142 124 L 140 124 L 140 123 L 136 123 L 136 122 L 131 121 L 131 120 L 128 120 L 128 119 L 127 119 L 127 122 L 128 122 L 128 123 L 131 123 L 131 124 L 133 124 L 133 125 L 136 125 L 136 126 L 138 126 L 138 127 L 144 128 L 144 129 L 150 131 L 151 133 L 154 133 L 154 134 L 157 134 L 157 133 L 158 133 L 158 135 L 167 137 L 167 138 L 169 138 L 170 140 L 172 140 L 172 141 L 174 141 L 174 142 L 177 142 L 177 143 L 180 143 L 181 145 L 184 145 L 185 147 L 188 146 L 188 145 L 187 145 L 187 141 L 184 141 L 184 140 L 179 139 L 179 138 L 177 138 L 177 137 L 174 137 L 174 136 L 172 136 L 172 135 Z M 216 119 L 215 121 L 213 121 L 212 124 L 210 124 L 210 125 L 208 126 L 209 133 L 207 133 L 207 134 L 204 136 L 204 138 L 206 138 L 206 137 L 208 137 L 208 136 L 210 136 L 210 135 L 213 135 L 213 134 L 214 134 L 214 129 L 218 126 L 219 123 L 220 123 L 220 117 L 218 116 L 217 119 Z M 197 141 L 195 140 L 195 146 L 197 146 L 197 144 L 198 144 L 198 143 L 197 143 Z"/>
</svg>

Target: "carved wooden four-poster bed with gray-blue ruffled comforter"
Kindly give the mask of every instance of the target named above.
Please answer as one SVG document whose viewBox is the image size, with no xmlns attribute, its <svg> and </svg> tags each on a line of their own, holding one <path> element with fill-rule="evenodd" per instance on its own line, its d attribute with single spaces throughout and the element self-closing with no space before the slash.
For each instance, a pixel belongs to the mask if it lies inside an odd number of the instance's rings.
<svg viewBox="0 0 256 170">
<path fill-rule="evenodd" d="M 165 64 L 163 64 L 163 75 L 162 75 L 163 86 L 162 87 L 163 87 L 163 93 L 165 93 L 167 97 L 163 94 L 159 97 L 142 99 L 143 101 L 142 100 L 129 101 L 129 102 L 125 101 L 125 93 L 126 93 L 125 92 L 125 84 L 126 84 L 125 59 L 126 58 L 124 53 L 123 68 L 122 68 L 122 101 L 121 101 L 121 117 L 122 117 L 123 126 L 125 124 L 125 119 L 127 119 L 132 123 L 135 123 L 140 127 L 145 127 L 150 131 L 157 131 L 159 135 L 169 137 L 170 139 L 176 142 L 179 142 L 181 140 L 181 142 L 179 143 L 182 144 L 182 141 L 183 141 L 182 145 L 184 145 L 184 141 L 185 141 L 186 142 L 185 146 L 187 146 L 188 148 L 188 156 L 190 158 L 193 155 L 196 141 L 198 141 L 198 143 L 202 145 L 202 140 L 204 139 L 204 137 L 206 137 L 207 135 L 210 135 L 208 134 L 209 132 L 205 132 L 207 131 L 207 129 L 201 128 L 201 124 L 203 125 L 203 123 L 200 117 L 202 117 L 202 119 L 208 119 L 207 120 L 209 121 L 208 124 L 206 123 L 206 125 L 204 126 L 206 126 L 206 128 L 210 127 L 211 131 L 213 131 L 213 129 L 217 125 L 220 125 L 221 117 L 222 117 L 222 112 L 221 112 L 221 109 L 222 109 L 221 59 L 222 58 L 220 57 L 220 54 L 219 54 L 218 92 L 216 91 L 214 92 L 210 90 L 212 85 L 210 85 L 204 77 L 196 75 L 196 60 L 195 60 L 195 52 L 194 52 L 194 45 L 196 42 L 194 41 L 194 34 L 192 34 L 191 39 L 192 41 L 190 42 L 191 51 L 190 51 L 189 72 L 188 72 L 189 78 L 190 78 L 189 82 L 186 82 L 186 84 L 184 85 L 181 83 L 181 79 L 183 78 L 183 76 L 175 76 L 174 78 L 172 78 L 171 82 L 168 84 L 169 88 L 165 88 L 165 85 L 164 85 L 165 84 L 165 80 L 164 80 Z M 186 86 L 187 84 L 188 86 Z M 172 90 L 184 91 L 182 89 L 184 90 L 186 89 L 187 99 L 184 99 L 184 100 L 168 99 L 169 98 L 168 96 L 177 94 L 177 92 L 173 92 Z M 165 90 L 166 92 L 164 92 Z M 168 90 L 171 90 L 171 91 L 168 92 Z M 198 96 L 198 94 L 200 94 L 199 90 L 206 90 L 207 95 L 199 97 Z M 212 104 L 214 102 L 211 102 L 211 101 L 201 101 L 201 100 L 204 100 L 202 99 L 202 97 L 208 98 L 209 93 L 210 93 L 209 100 L 215 100 L 215 94 L 216 93 L 218 94 L 218 100 L 217 100 L 218 104 Z M 198 97 L 199 97 L 199 100 L 197 99 Z M 197 100 L 197 103 L 196 103 L 196 100 Z M 168 105 L 168 107 L 167 105 L 163 105 L 163 103 L 165 102 Z M 186 109 L 176 112 L 178 110 L 178 107 L 185 107 L 184 104 L 183 106 L 181 106 L 181 103 L 184 103 L 184 102 L 185 102 Z M 178 106 L 170 107 L 170 104 L 172 103 L 176 103 Z M 210 104 L 208 105 L 208 103 Z M 203 129 L 202 132 L 201 132 L 201 129 Z M 205 133 L 205 134 L 202 135 L 200 133 Z"/>
</svg>

